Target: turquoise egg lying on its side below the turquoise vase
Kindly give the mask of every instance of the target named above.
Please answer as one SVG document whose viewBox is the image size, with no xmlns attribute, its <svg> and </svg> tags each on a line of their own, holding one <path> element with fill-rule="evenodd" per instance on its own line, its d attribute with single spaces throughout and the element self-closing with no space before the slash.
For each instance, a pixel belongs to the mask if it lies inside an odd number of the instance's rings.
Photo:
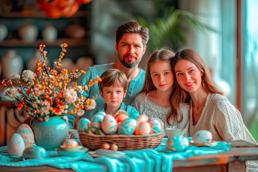
<svg viewBox="0 0 258 172">
<path fill-rule="evenodd" d="M 46 149 L 42 146 L 34 145 L 31 147 L 27 147 L 23 152 L 23 157 L 26 159 L 29 158 L 45 158 L 46 157 Z"/>
</svg>

